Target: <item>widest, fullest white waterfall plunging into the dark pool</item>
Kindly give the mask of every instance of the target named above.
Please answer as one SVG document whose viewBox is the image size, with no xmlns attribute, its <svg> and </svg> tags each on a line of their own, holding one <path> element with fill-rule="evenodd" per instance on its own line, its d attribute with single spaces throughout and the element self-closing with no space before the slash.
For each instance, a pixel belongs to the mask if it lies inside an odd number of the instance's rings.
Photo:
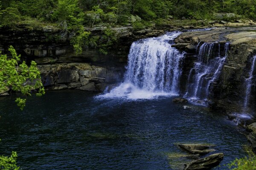
<svg viewBox="0 0 256 170">
<path fill-rule="evenodd" d="M 104 97 L 145 99 L 179 94 L 184 56 L 172 47 L 181 32 L 139 40 L 131 45 L 124 82 Z"/>
</svg>

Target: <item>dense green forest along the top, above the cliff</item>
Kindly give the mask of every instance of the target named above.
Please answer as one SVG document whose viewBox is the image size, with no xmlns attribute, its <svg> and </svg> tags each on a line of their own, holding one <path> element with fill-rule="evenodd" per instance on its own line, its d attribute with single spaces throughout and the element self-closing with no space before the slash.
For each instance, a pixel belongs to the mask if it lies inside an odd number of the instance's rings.
<svg viewBox="0 0 256 170">
<path fill-rule="evenodd" d="M 256 20 L 256 0 L 1 0 L 0 26 L 58 23 L 65 29 L 100 22 L 125 24 L 174 19 L 215 20 L 215 13 L 234 13 Z M 217 18 L 218 19 L 218 18 Z"/>
</svg>

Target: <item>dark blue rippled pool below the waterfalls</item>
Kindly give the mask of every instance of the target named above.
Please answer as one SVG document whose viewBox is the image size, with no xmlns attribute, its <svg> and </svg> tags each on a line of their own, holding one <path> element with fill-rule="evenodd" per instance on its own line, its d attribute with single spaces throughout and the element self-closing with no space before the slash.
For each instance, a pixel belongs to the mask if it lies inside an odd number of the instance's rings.
<svg viewBox="0 0 256 170">
<path fill-rule="evenodd" d="M 22 170 L 172 170 L 192 160 L 178 143 L 214 144 L 220 167 L 246 156 L 238 127 L 221 113 L 174 97 L 101 98 L 83 91 L 47 91 L 28 99 L 0 98 L 0 153 L 17 151 Z"/>
</svg>

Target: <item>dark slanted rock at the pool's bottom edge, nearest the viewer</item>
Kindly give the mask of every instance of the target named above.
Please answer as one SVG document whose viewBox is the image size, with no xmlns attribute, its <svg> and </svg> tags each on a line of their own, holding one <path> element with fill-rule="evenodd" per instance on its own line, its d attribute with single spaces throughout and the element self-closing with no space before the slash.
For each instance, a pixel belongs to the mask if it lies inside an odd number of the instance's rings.
<svg viewBox="0 0 256 170">
<path fill-rule="evenodd" d="M 223 153 L 215 153 L 186 164 L 184 170 L 210 170 L 213 167 L 218 166 L 218 164 L 223 160 L 223 157 Z"/>
</svg>

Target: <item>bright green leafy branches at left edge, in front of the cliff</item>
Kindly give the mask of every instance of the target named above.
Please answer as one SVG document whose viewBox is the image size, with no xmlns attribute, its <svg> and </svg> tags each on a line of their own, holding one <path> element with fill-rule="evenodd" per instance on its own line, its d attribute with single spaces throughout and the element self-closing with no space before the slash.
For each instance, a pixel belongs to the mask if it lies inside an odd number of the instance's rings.
<svg viewBox="0 0 256 170">
<path fill-rule="evenodd" d="M 12 58 L 7 55 L 0 55 L 0 91 L 6 91 L 6 88 L 12 91 L 20 91 L 23 95 L 31 96 L 32 89 L 39 89 L 37 96 L 45 94 L 44 87 L 41 82 L 40 71 L 36 66 L 36 62 L 32 61 L 28 66 L 23 61 L 20 62 L 20 55 L 17 55 L 15 49 L 10 46 Z M 17 105 L 23 110 L 26 100 L 16 99 Z"/>
</svg>

